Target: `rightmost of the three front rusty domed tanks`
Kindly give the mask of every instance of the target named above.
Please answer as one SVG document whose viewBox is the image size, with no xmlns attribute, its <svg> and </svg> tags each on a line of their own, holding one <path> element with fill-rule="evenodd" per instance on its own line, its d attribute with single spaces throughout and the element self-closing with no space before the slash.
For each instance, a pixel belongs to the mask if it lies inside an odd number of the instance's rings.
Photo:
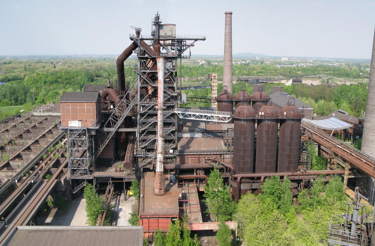
<svg viewBox="0 0 375 246">
<path fill-rule="evenodd" d="M 278 172 L 295 172 L 298 169 L 298 157 L 301 131 L 301 111 L 288 102 L 280 113 Z"/>
</svg>

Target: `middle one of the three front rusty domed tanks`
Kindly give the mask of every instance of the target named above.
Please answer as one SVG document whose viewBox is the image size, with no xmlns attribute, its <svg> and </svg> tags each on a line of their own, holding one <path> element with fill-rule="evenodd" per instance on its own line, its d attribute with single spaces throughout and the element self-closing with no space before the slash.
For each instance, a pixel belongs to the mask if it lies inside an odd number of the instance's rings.
<svg viewBox="0 0 375 246">
<path fill-rule="evenodd" d="M 279 110 L 266 105 L 259 109 L 257 119 L 257 151 L 255 172 L 276 172 Z"/>
</svg>

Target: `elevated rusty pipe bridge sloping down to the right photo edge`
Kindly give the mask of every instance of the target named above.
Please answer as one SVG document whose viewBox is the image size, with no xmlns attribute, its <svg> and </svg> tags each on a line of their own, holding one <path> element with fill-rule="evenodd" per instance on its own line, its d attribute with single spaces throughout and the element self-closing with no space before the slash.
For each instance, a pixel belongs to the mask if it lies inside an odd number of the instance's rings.
<svg viewBox="0 0 375 246">
<path fill-rule="evenodd" d="M 350 163 L 363 173 L 375 178 L 375 159 L 345 144 L 341 140 L 327 134 L 326 132 L 315 128 L 307 122 L 301 122 L 301 127 L 312 133 L 312 140 L 320 145 L 332 150 L 332 152 L 341 159 Z"/>
</svg>

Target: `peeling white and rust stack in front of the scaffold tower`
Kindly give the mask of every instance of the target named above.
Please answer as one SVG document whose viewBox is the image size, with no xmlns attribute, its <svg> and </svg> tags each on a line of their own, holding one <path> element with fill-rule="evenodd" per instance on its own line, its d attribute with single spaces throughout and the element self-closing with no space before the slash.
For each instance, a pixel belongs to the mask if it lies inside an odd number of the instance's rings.
<svg viewBox="0 0 375 246">
<path fill-rule="evenodd" d="M 164 69 L 165 58 L 157 57 L 157 160 L 156 160 L 156 175 L 154 184 L 154 194 L 161 196 L 165 194 L 165 179 L 164 179 L 164 135 L 163 135 L 163 107 L 164 107 Z"/>
</svg>

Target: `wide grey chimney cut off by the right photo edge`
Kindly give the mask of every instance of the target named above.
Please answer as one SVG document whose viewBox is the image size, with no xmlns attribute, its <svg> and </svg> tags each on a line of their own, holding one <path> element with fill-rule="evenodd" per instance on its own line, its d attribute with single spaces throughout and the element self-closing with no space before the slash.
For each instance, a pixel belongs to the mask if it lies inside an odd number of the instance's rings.
<svg viewBox="0 0 375 246">
<path fill-rule="evenodd" d="M 363 127 L 361 150 L 375 158 L 375 31 L 372 44 L 369 90 L 367 93 L 365 125 Z"/>
</svg>

